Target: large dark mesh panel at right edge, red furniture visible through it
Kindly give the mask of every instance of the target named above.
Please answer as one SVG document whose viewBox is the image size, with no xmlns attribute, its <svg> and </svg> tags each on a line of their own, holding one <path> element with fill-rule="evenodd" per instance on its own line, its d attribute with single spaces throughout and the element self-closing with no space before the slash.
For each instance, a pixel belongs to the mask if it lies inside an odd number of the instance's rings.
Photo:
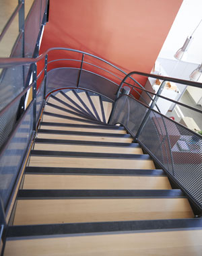
<svg viewBox="0 0 202 256">
<path fill-rule="evenodd" d="M 202 137 L 151 111 L 139 141 L 202 208 Z"/>
</svg>

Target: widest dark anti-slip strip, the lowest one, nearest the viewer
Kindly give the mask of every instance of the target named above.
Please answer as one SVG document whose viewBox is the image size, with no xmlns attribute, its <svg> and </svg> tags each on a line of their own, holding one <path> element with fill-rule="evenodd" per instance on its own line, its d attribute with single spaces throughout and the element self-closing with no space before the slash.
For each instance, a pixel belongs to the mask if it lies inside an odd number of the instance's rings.
<svg viewBox="0 0 202 256">
<path fill-rule="evenodd" d="M 26 236 L 90 234 L 104 232 L 163 232 L 172 230 L 195 230 L 202 228 L 202 218 L 168 219 L 168 220 L 130 220 L 123 222 L 84 222 L 65 224 L 40 224 L 26 226 L 10 226 L 7 236 L 10 239 Z"/>
</svg>

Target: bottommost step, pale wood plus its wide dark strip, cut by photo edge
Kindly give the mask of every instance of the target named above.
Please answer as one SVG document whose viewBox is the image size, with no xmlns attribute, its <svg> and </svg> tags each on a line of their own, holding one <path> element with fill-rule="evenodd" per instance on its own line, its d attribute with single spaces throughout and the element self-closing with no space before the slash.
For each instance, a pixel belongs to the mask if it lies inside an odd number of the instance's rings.
<svg viewBox="0 0 202 256">
<path fill-rule="evenodd" d="M 201 226 L 199 218 L 12 226 L 5 256 L 196 256 Z"/>
</svg>

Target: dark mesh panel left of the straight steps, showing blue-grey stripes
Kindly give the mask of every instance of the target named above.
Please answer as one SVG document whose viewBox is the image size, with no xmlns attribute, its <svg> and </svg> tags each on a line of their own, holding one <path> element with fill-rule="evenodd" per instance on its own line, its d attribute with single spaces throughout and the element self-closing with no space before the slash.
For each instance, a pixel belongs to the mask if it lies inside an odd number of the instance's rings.
<svg viewBox="0 0 202 256">
<path fill-rule="evenodd" d="M 24 117 L 18 131 L 13 135 L 9 145 L 0 158 L 0 195 L 6 205 L 18 171 L 24 160 L 24 154 L 30 143 L 33 126 L 33 105 Z"/>
</svg>

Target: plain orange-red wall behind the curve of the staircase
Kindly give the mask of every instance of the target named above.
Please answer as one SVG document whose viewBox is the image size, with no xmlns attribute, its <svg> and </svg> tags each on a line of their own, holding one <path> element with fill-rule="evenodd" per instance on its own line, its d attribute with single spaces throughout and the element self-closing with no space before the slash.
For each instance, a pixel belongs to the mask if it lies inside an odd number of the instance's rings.
<svg viewBox="0 0 202 256">
<path fill-rule="evenodd" d="M 150 73 L 181 3 L 182 0 L 50 0 L 40 53 L 57 46 L 79 49 L 127 72 Z M 58 57 L 58 52 L 48 56 Z M 139 81 L 145 82 L 145 78 Z"/>
</svg>

